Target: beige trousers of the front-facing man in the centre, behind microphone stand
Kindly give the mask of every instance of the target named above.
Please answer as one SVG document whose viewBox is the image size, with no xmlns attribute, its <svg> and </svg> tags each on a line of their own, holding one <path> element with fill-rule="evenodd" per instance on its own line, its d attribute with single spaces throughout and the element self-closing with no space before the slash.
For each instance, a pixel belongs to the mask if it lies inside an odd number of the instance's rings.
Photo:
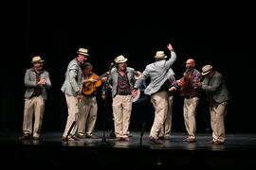
<svg viewBox="0 0 256 170">
<path fill-rule="evenodd" d="M 116 137 L 128 137 L 132 112 L 132 95 L 119 95 L 113 98 L 113 115 Z"/>
</svg>

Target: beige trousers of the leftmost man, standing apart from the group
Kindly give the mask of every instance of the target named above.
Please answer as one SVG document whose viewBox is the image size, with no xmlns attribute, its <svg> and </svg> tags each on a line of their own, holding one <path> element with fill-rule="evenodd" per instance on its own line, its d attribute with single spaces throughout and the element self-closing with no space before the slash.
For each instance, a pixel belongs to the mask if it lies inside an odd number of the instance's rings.
<svg viewBox="0 0 256 170">
<path fill-rule="evenodd" d="M 32 134 L 33 132 L 33 137 L 40 136 L 44 111 L 45 111 L 45 100 L 42 97 L 42 95 L 25 99 L 24 120 L 23 120 L 24 134 Z M 35 119 L 34 119 L 33 131 L 32 131 L 33 113 L 34 113 Z"/>
</svg>

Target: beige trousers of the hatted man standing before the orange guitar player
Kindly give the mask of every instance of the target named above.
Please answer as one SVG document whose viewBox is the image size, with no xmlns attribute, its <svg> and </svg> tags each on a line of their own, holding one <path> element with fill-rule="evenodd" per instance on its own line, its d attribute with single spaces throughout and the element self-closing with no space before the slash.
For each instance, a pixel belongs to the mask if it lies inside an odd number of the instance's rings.
<svg viewBox="0 0 256 170">
<path fill-rule="evenodd" d="M 66 119 L 66 124 L 64 128 L 64 134 L 63 134 L 63 136 L 66 137 L 67 132 L 69 128 L 72 126 L 74 121 L 76 122 L 76 124 L 70 131 L 70 135 L 73 136 L 78 129 L 77 121 L 80 114 L 80 108 L 79 108 L 80 101 L 77 99 L 76 96 L 68 95 L 66 93 L 64 95 L 65 95 L 65 101 L 66 101 L 67 110 L 68 110 L 68 116 Z"/>
</svg>

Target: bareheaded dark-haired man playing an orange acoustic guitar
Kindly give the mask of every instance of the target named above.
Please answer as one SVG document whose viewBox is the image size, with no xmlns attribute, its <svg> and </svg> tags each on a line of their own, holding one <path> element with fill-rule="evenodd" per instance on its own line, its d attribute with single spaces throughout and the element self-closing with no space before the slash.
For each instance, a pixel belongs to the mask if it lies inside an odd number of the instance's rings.
<svg viewBox="0 0 256 170">
<path fill-rule="evenodd" d="M 78 120 L 78 138 L 96 139 L 93 130 L 97 119 L 97 99 L 96 88 L 101 86 L 101 81 L 105 80 L 106 73 L 97 76 L 92 72 L 92 64 L 89 62 L 82 63 L 82 73 L 84 76 L 82 84 L 82 98 L 80 102 L 80 117 Z"/>
</svg>

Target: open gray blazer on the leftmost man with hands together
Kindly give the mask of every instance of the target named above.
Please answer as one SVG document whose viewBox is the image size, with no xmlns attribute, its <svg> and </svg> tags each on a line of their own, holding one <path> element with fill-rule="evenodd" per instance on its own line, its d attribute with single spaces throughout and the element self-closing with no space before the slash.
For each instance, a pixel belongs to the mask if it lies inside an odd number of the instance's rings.
<svg viewBox="0 0 256 170">
<path fill-rule="evenodd" d="M 41 85 L 42 89 L 42 97 L 46 100 L 47 93 L 46 88 L 49 89 L 51 87 L 51 82 L 49 78 L 49 73 L 45 70 L 41 75 L 41 79 L 46 78 L 46 85 Z M 25 78 L 24 78 L 25 86 L 27 87 L 24 97 L 30 98 L 34 93 L 34 89 L 38 87 L 36 85 L 36 73 L 33 71 L 33 68 L 29 68 L 26 70 Z"/>
</svg>

